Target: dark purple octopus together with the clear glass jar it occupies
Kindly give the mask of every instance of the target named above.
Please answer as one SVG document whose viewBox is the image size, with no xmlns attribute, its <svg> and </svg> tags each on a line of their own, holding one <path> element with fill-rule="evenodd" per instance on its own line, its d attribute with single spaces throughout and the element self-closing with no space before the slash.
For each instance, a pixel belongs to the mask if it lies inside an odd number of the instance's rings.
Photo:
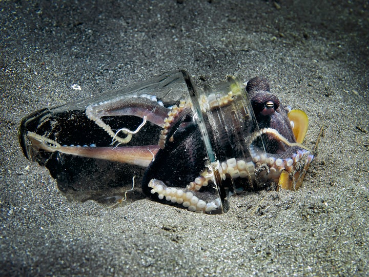
<svg viewBox="0 0 369 277">
<path fill-rule="evenodd" d="M 176 71 L 104 97 L 20 124 L 25 156 L 79 200 L 121 202 L 133 190 L 121 184 L 137 176 L 154 201 L 221 213 L 236 193 L 296 190 L 314 157 L 302 145 L 308 116 L 280 103 L 264 77 L 199 90 Z"/>
</svg>

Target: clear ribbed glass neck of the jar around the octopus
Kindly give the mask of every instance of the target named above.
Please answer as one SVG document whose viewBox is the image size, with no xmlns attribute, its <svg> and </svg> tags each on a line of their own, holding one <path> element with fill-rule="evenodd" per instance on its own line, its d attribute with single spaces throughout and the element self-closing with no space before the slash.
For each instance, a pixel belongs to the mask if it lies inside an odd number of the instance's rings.
<svg viewBox="0 0 369 277">
<path fill-rule="evenodd" d="M 228 196 L 264 186 L 255 175 L 256 160 L 265 157 L 248 93 L 237 77 L 197 89 L 190 81 L 194 120 L 201 131 L 223 207 Z"/>
</svg>

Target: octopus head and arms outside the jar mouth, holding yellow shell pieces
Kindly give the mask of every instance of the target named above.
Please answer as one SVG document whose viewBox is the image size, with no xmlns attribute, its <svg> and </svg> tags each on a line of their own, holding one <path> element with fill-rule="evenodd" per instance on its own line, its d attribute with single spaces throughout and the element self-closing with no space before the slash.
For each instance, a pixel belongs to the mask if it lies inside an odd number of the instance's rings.
<svg viewBox="0 0 369 277">
<path fill-rule="evenodd" d="M 308 116 L 303 111 L 283 106 L 270 92 L 266 78 L 253 78 L 246 90 L 267 152 L 262 162 L 267 164 L 270 177 L 280 187 L 298 188 L 313 159 L 313 151 L 301 145 L 308 130 Z"/>
</svg>

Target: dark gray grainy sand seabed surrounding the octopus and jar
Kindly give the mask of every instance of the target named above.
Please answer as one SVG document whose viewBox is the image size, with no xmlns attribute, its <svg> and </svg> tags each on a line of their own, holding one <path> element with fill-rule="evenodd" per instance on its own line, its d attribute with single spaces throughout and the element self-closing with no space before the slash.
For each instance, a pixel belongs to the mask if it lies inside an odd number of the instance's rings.
<svg viewBox="0 0 369 277">
<path fill-rule="evenodd" d="M 367 1 L 140 2 L 0 3 L 0 275 L 368 274 Z M 178 68 L 267 76 L 308 114 L 305 145 L 323 126 L 302 188 L 234 196 L 222 215 L 104 208 L 68 201 L 20 151 L 30 112 Z"/>
</svg>

